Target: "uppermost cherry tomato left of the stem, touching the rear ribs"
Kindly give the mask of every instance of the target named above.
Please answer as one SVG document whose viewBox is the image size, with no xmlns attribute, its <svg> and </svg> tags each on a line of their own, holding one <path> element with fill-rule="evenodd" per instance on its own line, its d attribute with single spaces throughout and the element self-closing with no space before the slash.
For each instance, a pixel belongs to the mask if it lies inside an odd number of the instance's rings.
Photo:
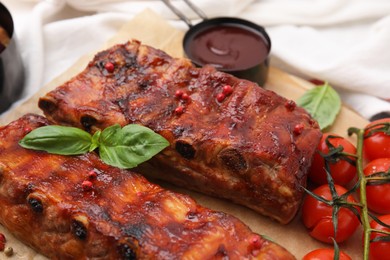
<svg viewBox="0 0 390 260">
<path fill-rule="evenodd" d="M 336 138 L 332 138 L 332 136 L 335 136 Z M 329 147 L 326 144 L 327 138 L 334 147 L 337 148 L 339 146 L 342 146 L 343 152 L 356 154 L 355 146 L 345 138 L 336 134 L 324 134 L 321 138 L 320 143 L 318 144 L 317 152 L 314 154 L 313 162 L 311 164 L 308 174 L 309 179 L 313 183 L 318 185 L 328 183 L 326 179 L 324 158 L 319 153 L 321 152 L 323 154 L 329 154 Z M 355 161 L 355 159 L 350 156 L 348 158 L 352 160 L 352 162 Z M 336 184 L 345 186 L 350 181 L 352 181 L 356 175 L 355 165 L 346 161 L 343 157 L 338 157 L 335 161 L 331 161 L 329 166 L 330 174 L 332 175 L 333 181 Z"/>
</svg>

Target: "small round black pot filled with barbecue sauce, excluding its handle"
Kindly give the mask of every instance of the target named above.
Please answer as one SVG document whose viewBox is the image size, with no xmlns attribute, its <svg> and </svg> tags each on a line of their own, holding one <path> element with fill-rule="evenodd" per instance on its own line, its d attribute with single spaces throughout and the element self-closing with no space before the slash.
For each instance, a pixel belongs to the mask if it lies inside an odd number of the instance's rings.
<svg viewBox="0 0 390 260">
<path fill-rule="evenodd" d="M 233 17 L 204 20 L 190 27 L 183 48 L 196 66 L 212 65 L 260 86 L 266 82 L 271 40 L 255 23 Z"/>
</svg>

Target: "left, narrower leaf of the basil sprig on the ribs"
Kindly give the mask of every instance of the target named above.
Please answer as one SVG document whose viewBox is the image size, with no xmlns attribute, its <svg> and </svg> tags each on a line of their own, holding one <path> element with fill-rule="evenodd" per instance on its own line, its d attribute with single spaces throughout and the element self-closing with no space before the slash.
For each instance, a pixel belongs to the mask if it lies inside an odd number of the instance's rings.
<svg viewBox="0 0 390 260">
<path fill-rule="evenodd" d="M 28 133 L 19 144 L 28 149 L 53 154 L 77 155 L 89 151 L 92 137 L 89 133 L 67 126 L 43 126 Z"/>
</svg>

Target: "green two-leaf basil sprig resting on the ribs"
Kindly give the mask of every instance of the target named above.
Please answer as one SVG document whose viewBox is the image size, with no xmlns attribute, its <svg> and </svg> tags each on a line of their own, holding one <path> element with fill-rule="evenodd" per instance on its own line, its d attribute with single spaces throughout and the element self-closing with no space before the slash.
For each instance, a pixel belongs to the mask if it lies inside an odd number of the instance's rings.
<svg viewBox="0 0 390 260">
<path fill-rule="evenodd" d="M 80 155 L 99 149 L 100 158 L 111 166 L 130 169 L 145 162 L 169 146 L 169 142 L 151 129 L 116 124 L 92 136 L 68 126 L 49 125 L 34 129 L 19 144 L 27 149 L 60 155 Z"/>
</svg>

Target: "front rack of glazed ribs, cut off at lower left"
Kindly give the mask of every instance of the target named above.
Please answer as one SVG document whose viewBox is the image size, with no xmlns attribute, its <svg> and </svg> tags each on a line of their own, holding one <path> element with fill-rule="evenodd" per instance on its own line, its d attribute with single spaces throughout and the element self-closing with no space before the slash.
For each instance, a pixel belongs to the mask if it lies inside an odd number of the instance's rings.
<svg viewBox="0 0 390 260">
<path fill-rule="evenodd" d="M 0 128 L 0 223 L 49 258 L 294 259 L 238 219 L 94 153 L 60 156 L 18 145 L 47 123 L 30 114 Z"/>
</svg>

